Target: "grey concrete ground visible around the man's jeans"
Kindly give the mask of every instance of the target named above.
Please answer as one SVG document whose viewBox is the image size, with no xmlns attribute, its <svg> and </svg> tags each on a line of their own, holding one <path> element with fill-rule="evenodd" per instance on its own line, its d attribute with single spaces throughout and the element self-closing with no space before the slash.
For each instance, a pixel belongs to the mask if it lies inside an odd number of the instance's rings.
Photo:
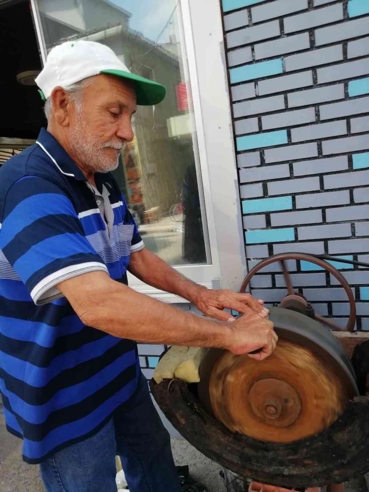
<svg viewBox="0 0 369 492">
<path fill-rule="evenodd" d="M 21 458 L 22 442 L 5 428 L 0 405 L 0 492 L 44 492 L 37 466 L 26 465 Z M 209 492 L 225 492 L 219 476 L 221 467 L 183 440 L 172 440 L 176 465 L 189 465 L 191 475 L 205 484 Z M 367 492 L 363 480 L 351 482 L 345 492 Z"/>
</svg>

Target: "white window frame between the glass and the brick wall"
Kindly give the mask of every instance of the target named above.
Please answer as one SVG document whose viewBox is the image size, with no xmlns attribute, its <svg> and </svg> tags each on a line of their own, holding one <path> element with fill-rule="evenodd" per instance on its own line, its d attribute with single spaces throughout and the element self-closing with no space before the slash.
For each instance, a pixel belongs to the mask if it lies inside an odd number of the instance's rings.
<svg viewBox="0 0 369 492">
<path fill-rule="evenodd" d="M 40 16 L 35 0 L 30 2 L 45 63 Z M 220 0 L 180 0 L 179 5 L 200 156 L 199 193 L 206 210 L 211 264 L 180 265 L 175 269 L 207 288 L 238 290 L 247 266 Z M 141 293 L 165 302 L 187 302 L 146 285 L 130 273 L 128 279 L 129 285 Z"/>
</svg>

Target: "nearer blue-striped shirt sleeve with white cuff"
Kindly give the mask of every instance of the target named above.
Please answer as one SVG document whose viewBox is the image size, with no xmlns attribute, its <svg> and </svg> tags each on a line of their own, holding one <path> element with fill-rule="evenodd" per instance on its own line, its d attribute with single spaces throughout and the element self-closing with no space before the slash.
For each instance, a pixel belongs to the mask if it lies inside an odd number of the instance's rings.
<svg viewBox="0 0 369 492">
<path fill-rule="evenodd" d="M 85 237 L 68 196 L 54 183 L 26 176 L 8 190 L 0 249 L 35 304 L 63 294 L 56 285 L 107 267 Z"/>
</svg>

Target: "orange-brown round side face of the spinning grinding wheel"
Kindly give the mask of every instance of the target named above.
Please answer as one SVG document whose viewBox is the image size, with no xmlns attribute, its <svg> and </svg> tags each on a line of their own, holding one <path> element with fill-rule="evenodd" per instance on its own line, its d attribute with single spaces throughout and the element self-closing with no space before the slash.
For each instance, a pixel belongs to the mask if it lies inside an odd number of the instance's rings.
<svg viewBox="0 0 369 492">
<path fill-rule="evenodd" d="M 222 355 L 209 393 L 214 415 L 228 429 L 281 443 L 321 432 L 352 396 L 322 358 L 287 340 L 262 362 Z"/>
</svg>

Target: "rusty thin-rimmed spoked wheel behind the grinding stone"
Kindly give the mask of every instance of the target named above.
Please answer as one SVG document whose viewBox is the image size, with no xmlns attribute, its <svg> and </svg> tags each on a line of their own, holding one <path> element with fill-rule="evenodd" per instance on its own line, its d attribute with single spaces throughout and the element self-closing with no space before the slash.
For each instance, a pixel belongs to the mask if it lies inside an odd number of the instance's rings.
<svg viewBox="0 0 369 492">
<path fill-rule="evenodd" d="M 298 292 L 294 292 L 293 290 L 293 285 L 291 282 L 291 277 L 290 273 L 287 269 L 286 261 L 288 260 L 301 260 L 301 261 L 308 261 L 310 263 L 314 263 L 315 265 L 321 266 L 325 270 L 327 270 L 329 273 L 331 273 L 342 285 L 342 287 L 345 289 L 345 292 L 347 294 L 347 297 L 349 299 L 350 303 L 350 316 L 349 320 L 347 323 L 346 328 L 344 329 L 345 331 L 353 331 L 355 322 L 356 322 L 356 305 L 355 305 L 355 297 L 352 293 L 352 290 L 347 283 L 345 277 L 340 273 L 334 266 L 332 266 L 330 263 L 321 260 L 319 258 L 315 258 L 314 256 L 310 255 L 305 255 L 303 253 L 286 253 L 286 254 L 281 254 L 281 255 L 275 255 L 271 256 L 270 258 L 267 258 L 266 260 L 262 260 L 260 263 L 258 263 L 252 270 L 250 270 L 249 274 L 247 277 L 244 279 L 240 292 L 245 292 L 247 287 L 250 284 L 251 279 L 257 273 L 258 271 L 262 270 L 264 267 L 267 265 L 270 265 L 271 263 L 275 262 L 280 262 L 282 266 L 282 272 L 283 276 L 285 278 L 286 282 L 286 288 L 288 295 L 283 299 L 281 302 L 281 308 L 287 308 L 289 305 L 298 305 L 303 302 L 303 304 L 308 307 L 308 301 L 304 298 L 304 296 Z M 338 330 L 342 331 L 343 328 L 339 325 L 336 325 L 333 321 L 331 321 L 329 318 L 325 318 L 323 316 L 320 316 L 319 314 L 314 314 L 314 317 L 317 321 L 320 321 L 321 323 L 324 323 L 325 325 L 329 326 L 333 330 Z"/>
</svg>

